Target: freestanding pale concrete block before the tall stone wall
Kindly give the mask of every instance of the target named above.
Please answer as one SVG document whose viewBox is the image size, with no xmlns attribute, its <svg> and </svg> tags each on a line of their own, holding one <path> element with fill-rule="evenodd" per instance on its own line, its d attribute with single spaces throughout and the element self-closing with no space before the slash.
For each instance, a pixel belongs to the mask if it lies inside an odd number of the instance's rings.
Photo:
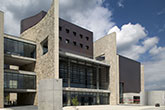
<svg viewBox="0 0 165 110">
<path fill-rule="evenodd" d="M 62 80 L 40 80 L 38 87 L 38 110 L 62 110 Z"/>
</svg>

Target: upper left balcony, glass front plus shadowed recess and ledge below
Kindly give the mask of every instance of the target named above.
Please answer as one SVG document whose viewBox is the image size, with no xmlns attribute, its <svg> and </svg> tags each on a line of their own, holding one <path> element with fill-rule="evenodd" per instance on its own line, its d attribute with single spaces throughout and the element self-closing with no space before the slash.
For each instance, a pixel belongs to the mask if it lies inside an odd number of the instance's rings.
<svg viewBox="0 0 165 110">
<path fill-rule="evenodd" d="M 22 66 L 35 62 L 36 45 L 4 38 L 4 61 L 6 64 Z"/>
</svg>

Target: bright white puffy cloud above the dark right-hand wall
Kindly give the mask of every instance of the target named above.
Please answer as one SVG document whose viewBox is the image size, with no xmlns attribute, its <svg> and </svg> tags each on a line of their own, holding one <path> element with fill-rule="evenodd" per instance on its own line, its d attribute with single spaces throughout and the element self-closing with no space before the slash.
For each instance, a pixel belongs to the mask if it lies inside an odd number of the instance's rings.
<svg viewBox="0 0 165 110">
<path fill-rule="evenodd" d="M 147 37 L 140 24 L 124 24 L 121 29 L 114 26 L 108 33 L 116 32 L 118 53 L 135 60 L 158 43 L 157 37 Z"/>
</svg>

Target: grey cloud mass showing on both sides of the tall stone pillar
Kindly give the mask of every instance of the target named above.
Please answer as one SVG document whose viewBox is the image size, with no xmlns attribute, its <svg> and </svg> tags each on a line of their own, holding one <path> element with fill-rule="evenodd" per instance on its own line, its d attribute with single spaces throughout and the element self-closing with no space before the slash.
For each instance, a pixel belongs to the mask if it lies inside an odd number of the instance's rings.
<svg viewBox="0 0 165 110">
<path fill-rule="evenodd" d="M 0 0 L 5 12 L 5 32 L 19 36 L 20 21 L 48 10 L 52 0 Z M 94 32 L 94 40 L 106 35 L 115 23 L 112 12 L 102 6 L 104 0 L 60 0 L 60 17 Z"/>
</svg>

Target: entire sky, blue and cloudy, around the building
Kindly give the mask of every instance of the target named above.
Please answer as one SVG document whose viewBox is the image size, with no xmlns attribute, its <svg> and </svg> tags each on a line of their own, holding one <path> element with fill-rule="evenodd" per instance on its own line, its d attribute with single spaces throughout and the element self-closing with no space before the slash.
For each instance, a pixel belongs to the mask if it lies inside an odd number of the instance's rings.
<svg viewBox="0 0 165 110">
<path fill-rule="evenodd" d="M 52 0 L 0 0 L 5 33 L 19 36 L 20 20 L 47 11 Z M 60 17 L 94 32 L 117 33 L 118 53 L 145 66 L 146 90 L 165 90 L 165 0 L 60 0 Z"/>
</svg>

